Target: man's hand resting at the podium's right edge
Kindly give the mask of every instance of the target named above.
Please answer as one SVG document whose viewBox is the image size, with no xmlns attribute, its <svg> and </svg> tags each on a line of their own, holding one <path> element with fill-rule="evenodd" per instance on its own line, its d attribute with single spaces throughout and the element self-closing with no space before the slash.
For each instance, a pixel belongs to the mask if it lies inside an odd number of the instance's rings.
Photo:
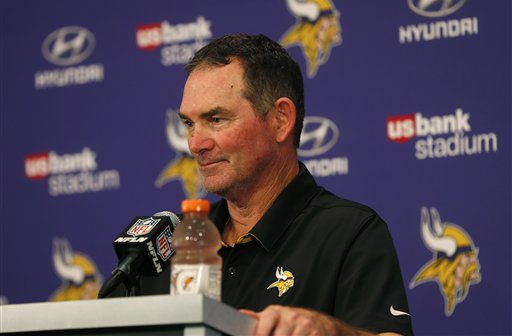
<svg viewBox="0 0 512 336">
<path fill-rule="evenodd" d="M 310 309 L 273 305 L 259 313 L 246 309 L 241 309 L 240 312 L 258 320 L 254 332 L 258 336 L 374 335 Z"/>
</svg>

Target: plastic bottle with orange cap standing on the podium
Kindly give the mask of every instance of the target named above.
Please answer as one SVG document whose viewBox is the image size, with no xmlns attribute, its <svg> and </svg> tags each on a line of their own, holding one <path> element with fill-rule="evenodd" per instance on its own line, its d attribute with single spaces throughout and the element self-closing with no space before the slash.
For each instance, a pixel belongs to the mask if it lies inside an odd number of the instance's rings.
<svg viewBox="0 0 512 336">
<path fill-rule="evenodd" d="M 184 200 L 184 218 L 176 226 L 171 259 L 171 295 L 203 294 L 220 301 L 222 258 L 220 234 L 208 218 L 210 202 Z"/>
</svg>

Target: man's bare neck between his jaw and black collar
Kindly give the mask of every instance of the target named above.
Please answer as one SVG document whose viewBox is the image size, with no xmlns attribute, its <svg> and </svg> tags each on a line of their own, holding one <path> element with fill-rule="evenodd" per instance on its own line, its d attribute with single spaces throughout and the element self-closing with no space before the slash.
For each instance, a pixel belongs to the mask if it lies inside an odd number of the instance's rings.
<svg viewBox="0 0 512 336">
<path fill-rule="evenodd" d="M 230 221 L 222 233 L 230 245 L 248 233 L 272 206 L 283 189 L 297 176 L 299 165 L 296 160 L 284 159 L 274 163 L 267 177 L 240 197 L 227 199 Z"/>
</svg>

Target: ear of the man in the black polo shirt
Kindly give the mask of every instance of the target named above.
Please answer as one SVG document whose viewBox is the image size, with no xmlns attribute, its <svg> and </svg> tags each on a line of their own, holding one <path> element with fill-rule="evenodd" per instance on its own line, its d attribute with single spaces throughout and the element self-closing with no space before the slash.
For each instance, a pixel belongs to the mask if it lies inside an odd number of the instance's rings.
<svg viewBox="0 0 512 336">
<path fill-rule="evenodd" d="M 277 99 L 270 113 L 272 113 L 271 118 L 276 141 L 278 143 L 285 142 L 287 139 L 293 141 L 293 130 L 297 118 L 297 109 L 293 101 L 286 97 Z"/>
</svg>

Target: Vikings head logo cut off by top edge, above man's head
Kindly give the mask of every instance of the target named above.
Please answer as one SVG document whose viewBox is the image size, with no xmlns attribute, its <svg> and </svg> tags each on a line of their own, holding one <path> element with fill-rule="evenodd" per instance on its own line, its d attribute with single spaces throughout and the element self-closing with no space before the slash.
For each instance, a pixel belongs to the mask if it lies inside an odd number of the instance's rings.
<svg viewBox="0 0 512 336">
<path fill-rule="evenodd" d="M 307 75 L 315 77 L 331 49 L 341 44 L 339 12 L 331 0 L 286 0 L 297 21 L 281 38 L 285 48 L 299 46 L 307 62 Z"/>
</svg>

